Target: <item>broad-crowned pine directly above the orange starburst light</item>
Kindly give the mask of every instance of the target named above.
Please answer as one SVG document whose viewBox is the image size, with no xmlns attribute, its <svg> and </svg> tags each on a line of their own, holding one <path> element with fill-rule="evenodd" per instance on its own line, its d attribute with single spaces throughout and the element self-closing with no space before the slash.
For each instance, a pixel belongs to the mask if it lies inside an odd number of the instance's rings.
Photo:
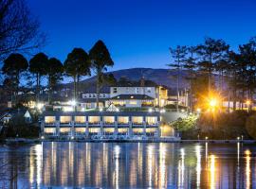
<svg viewBox="0 0 256 189">
<path fill-rule="evenodd" d="M 229 45 L 223 40 L 214 40 L 206 38 L 203 44 L 197 46 L 197 54 L 200 56 L 199 67 L 202 72 L 208 74 L 208 91 L 210 93 L 212 81 L 212 73 L 215 69 L 216 62 L 223 59 L 228 53 Z"/>
</svg>

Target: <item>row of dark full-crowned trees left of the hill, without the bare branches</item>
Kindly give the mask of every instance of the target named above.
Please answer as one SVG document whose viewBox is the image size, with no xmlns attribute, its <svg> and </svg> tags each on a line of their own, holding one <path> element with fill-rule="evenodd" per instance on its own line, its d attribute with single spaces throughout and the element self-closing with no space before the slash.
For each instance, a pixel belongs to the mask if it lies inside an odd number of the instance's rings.
<svg viewBox="0 0 256 189">
<path fill-rule="evenodd" d="M 91 70 L 97 76 L 97 102 L 99 107 L 99 94 L 103 81 L 114 80 L 113 75 L 106 75 L 108 66 L 114 64 L 105 44 L 100 40 L 94 44 L 89 53 L 82 48 L 74 48 L 64 63 L 56 58 L 48 58 L 44 53 L 38 53 L 30 60 L 22 54 L 12 53 L 4 60 L 2 73 L 4 74 L 3 88 L 12 97 L 12 103 L 18 103 L 21 78 L 26 78 L 32 85 L 36 83 L 36 101 L 40 102 L 42 77 L 47 78 L 48 103 L 51 103 L 51 94 L 54 86 L 64 76 L 72 77 L 74 83 L 73 100 L 76 100 L 81 89 L 79 88 L 81 77 L 91 76 Z M 31 88 L 30 88 L 31 89 Z"/>
</svg>

